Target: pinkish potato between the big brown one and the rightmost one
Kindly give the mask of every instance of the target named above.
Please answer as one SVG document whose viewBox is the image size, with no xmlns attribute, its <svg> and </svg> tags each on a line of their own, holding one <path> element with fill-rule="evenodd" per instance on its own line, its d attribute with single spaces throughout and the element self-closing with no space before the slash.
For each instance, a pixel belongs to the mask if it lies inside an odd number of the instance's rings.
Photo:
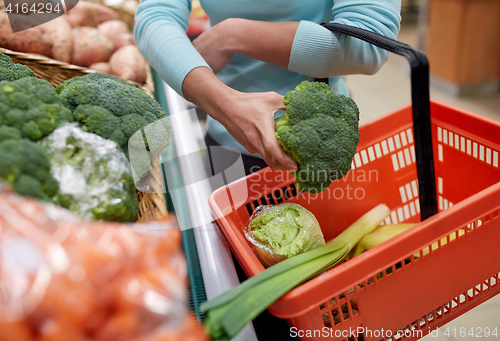
<svg viewBox="0 0 500 341">
<path fill-rule="evenodd" d="M 113 53 L 113 43 L 97 28 L 77 27 L 73 29 L 73 54 L 71 63 L 89 66 L 107 62 Z"/>
</svg>

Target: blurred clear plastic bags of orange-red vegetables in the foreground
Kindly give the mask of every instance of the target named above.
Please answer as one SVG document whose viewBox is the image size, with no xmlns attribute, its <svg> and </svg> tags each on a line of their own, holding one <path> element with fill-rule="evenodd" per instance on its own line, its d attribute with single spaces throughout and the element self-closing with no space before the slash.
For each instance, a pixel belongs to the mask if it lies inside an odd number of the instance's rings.
<svg viewBox="0 0 500 341">
<path fill-rule="evenodd" d="M 208 340 L 172 216 L 88 222 L 0 193 L 0 340 Z M 182 335 L 182 337 L 180 337 Z"/>
</svg>

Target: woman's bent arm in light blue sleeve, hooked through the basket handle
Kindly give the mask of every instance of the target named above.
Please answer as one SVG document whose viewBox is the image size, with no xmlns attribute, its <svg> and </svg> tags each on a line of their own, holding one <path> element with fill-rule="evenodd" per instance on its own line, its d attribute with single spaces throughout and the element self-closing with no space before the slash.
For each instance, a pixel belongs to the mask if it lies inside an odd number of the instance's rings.
<svg viewBox="0 0 500 341">
<path fill-rule="evenodd" d="M 352 25 L 395 39 L 400 1 L 335 0 L 334 23 Z M 389 53 L 310 21 L 263 22 L 227 19 L 200 35 L 193 45 L 219 72 L 235 54 L 272 63 L 311 77 L 373 74 Z"/>
</svg>

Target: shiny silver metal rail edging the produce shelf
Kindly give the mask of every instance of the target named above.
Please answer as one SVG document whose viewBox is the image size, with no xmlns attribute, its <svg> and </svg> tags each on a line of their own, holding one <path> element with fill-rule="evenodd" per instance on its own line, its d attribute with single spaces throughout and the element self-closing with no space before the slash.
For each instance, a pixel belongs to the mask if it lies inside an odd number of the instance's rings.
<svg viewBox="0 0 500 341">
<path fill-rule="evenodd" d="M 203 164 L 206 146 L 196 113 L 167 84 L 163 88 L 174 146 L 162 155 L 166 182 L 181 229 L 193 230 L 206 297 L 211 299 L 238 285 L 239 280 L 229 247 L 211 219 L 208 197 L 212 188 Z M 248 324 L 233 340 L 257 340 L 253 325 Z"/>
</svg>

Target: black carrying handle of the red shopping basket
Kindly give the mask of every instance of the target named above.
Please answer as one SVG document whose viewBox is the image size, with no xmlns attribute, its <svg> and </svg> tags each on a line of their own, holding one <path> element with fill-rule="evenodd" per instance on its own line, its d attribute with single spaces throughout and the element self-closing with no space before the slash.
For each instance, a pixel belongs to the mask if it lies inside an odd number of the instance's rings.
<svg viewBox="0 0 500 341">
<path fill-rule="evenodd" d="M 436 180 L 432 152 L 431 112 L 429 102 L 429 61 L 418 51 L 397 40 L 358 27 L 343 24 L 322 24 L 332 32 L 350 35 L 387 51 L 404 56 L 411 68 L 411 100 L 415 158 L 417 161 L 420 217 L 425 220 L 437 213 Z M 324 81 L 324 79 L 319 79 Z"/>
</svg>

